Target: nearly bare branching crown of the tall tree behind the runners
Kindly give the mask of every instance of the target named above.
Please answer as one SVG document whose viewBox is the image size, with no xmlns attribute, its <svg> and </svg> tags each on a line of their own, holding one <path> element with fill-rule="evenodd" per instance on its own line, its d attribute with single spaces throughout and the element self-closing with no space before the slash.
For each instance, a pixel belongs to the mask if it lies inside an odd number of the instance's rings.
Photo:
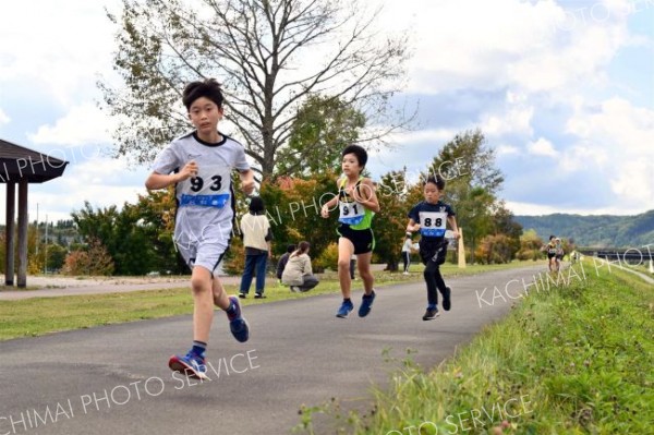
<svg viewBox="0 0 654 435">
<path fill-rule="evenodd" d="M 123 0 L 114 70 L 124 84 L 100 82 L 119 119 L 114 155 L 150 161 L 189 128 L 179 102 L 185 83 L 216 77 L 226 119 L 259 168 L 274 174 L 277 152 L 312 95 L 365 113 L 362 142 L 383 142 L 407 120 L 387 121 L 408 59 L 404 37 L 375 29 L 379 10 L 360 0 Z"/>
</svg>

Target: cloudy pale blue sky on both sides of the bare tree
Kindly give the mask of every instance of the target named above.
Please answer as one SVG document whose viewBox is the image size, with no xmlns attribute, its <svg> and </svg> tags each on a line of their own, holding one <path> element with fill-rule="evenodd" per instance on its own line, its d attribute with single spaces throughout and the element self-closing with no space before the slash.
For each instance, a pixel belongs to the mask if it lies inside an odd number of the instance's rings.
<svg viewBox="0 0 654 435">
<path fill-rule="evenodd" d="M 97 80 L 117 80 L 104 7 L 120 3 L 12 3 L 0 13 L 0 137 L 71 161 L 61 179 L 31 185 L 31 219 L 37 204 L 39 220 L 56 220 L 84 201 L 134 202 L 148 168 L 106 157 L 114 120 L 96 106 Z M 417 173 L 480 128 L 514 214 L 654 208 L 654 0 L 386 1 L 379 24 L 409 32 L 398 100 L 420 111 L 416 130 L 372 153 L 373 177 Z"/>
</svg>

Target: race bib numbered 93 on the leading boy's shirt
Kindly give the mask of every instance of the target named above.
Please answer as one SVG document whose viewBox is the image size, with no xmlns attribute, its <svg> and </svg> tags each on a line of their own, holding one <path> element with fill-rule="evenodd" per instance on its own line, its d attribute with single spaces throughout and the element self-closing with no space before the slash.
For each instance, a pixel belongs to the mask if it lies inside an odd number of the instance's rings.
<svg viewBox="0 0 654 435">
<path fill-rule="evenodd" d="M 178 184 L 181 192 L 180 207 L 225 207 L 230 198 L 230 167 L 202 164 L 197 166 L 196 177 Z"/>
</svg>

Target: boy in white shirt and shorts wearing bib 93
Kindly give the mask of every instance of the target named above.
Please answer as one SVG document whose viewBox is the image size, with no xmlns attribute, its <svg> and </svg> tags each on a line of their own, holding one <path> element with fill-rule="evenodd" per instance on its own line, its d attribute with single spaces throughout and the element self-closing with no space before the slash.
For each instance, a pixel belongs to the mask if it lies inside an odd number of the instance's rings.
<svg viewBox="0 0 654 435">
<path fill-rule="evenodd" d="M 172 141 L 157 156 L 145 186 L 157 190 L 175 185 L 174 243 L 192 269 L 193 345 L 185 355 L 172 355 L 168 365 L 204 379 L 214 305 L 226 311 L 237 340 L 250 338 L 239 299 L 227 295 L 215 274 L 232 231 L 235 202 L 231 171 L 239 170 L 246 195 L 254 189 L 254 178 L 243 146 L 218 131 L 223 114 L 220 84 L 211 78 L 190 83 L 182 101 L 196 130 Z"/>
</svg>

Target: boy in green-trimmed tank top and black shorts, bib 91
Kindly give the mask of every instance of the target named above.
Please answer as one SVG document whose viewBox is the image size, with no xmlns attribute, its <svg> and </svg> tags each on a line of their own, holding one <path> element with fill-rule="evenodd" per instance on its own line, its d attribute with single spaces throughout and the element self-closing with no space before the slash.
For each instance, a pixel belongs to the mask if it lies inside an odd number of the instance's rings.
<svg viewBox="0 0 654 435">
<path fill-rule="evenodd" d="M 359 145 L 350 145 L 342 152 L 343 176 L 337 180 L 338 195 L 327 202 L 320 214 L 329 217 L 329 210 L 337 204 L 340 215 L 337 229 L 338 239 L 338 279 L 340 281 L 343 302 L 336 313 L 344 318 L 354 310 L 351 300 L 352 278 L 350 277 L 350 258 L 356 255 L 359 275 L 363 280 L 364 295 L 359 307 L 359 316 L 365 317 L 371 312 L 375 300 L 373 289 L 374 277 L 371 273 L 371 258 L 375 247 L 375 235 L 371 228 L 373 216 L 379 213 L 379 201 L 371 179 L 361 176 L 367 162 L 367 153 Z"/>
</svg>

